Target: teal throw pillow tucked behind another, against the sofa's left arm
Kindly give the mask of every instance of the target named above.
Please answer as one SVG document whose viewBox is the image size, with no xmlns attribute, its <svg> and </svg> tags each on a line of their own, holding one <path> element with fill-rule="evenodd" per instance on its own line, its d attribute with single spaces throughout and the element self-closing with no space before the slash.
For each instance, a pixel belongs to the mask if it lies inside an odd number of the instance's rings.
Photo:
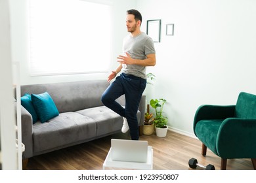
<svg viewBox="0 0 256 183">
<path fill-rule="evenodd" d="M 20 97 L 20 100 L 21 100 L 21 102 L 20 102 L 21 105 L 24 108 L 26 108 L 26 110 L 28 110 L 28 112 L 30 112 L 30 114 L 32 116 L 33 124 L 35 124 L 35 122 L 37 122 L 37 120 L 38 120 L 38 116 L 37 116 L 37 113 L 35 112 L 35 108 L 33 108 L 31 95 L 29 93 L 25 93 L 25 95 Z"/>
</svg>

